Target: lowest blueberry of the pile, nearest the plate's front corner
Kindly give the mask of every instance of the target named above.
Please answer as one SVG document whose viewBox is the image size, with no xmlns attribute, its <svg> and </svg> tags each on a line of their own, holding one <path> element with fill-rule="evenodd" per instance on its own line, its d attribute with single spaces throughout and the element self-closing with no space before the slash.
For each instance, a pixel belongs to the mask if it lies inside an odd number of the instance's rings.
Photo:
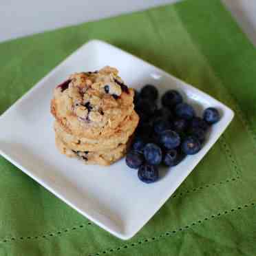
<svg viewBox="0 0 256 256">
<path fill-rule="evenodd" d="M 156 165 L 142 164 L 138 169 L 138 178 L 145 183 L 156 182 L 159 178 Z"/>
</svg>

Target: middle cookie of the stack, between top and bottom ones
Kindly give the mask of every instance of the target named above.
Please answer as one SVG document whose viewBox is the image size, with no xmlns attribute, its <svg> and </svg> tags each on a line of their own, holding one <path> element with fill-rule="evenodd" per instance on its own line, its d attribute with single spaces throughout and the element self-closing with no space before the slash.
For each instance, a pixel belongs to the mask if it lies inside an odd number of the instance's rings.
<svg viewBox="0 0 256 256">
<path fill-rule="evenodd" d="M 105 149 L 115 149 L 120 144 L 125 144 L 129 137 L 134 134 L 138 125 L 138 115 L 135 111 L 131 116 L 127 116 L 125 120 L 116 128 L 116 132 L 111 136 L 100 136 L 98 139 L 74 136 L 67 133 L 57 121 L 54 123 L 54 129 L 63 142 L 75 151 L 100 151 Z"/>
</svg>

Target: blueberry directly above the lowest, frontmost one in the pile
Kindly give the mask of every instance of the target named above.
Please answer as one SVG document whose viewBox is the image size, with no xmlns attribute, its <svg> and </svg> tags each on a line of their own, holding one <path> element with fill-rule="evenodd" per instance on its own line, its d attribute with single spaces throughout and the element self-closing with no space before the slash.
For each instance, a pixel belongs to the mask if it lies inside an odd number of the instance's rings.
<svg viewBox="0 0 256 256">
<path fill-rule="evenodd" d="M 162 150 L 158 145 L 153 143 L 147 143 L 143 149 L 144 157 L 149 164 L 160 164 L 162 161 Z"/>
</svg>

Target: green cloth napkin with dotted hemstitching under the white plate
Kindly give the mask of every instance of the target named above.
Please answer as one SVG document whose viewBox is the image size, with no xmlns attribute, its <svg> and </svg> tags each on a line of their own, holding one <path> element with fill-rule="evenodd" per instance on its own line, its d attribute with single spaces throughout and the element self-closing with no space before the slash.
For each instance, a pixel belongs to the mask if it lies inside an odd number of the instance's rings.
<svg viewBox="0 0 256 256">
<path fill-rule="evenodd" d="M 195 85 L 235 120 L 129 241 L 0 158 L 0 255 L 255 255 L 256 52 L 231 14 L 219 0 L 191 0 L 1 43 L 0 114 L 89 39 Z"/>
</svg>

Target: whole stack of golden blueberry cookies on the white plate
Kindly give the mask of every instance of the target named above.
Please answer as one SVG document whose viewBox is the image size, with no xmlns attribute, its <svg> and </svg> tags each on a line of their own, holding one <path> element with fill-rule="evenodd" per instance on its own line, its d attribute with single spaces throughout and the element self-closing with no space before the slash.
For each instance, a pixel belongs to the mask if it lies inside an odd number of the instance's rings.
<svg viewBox="0 0 256 256">
<path fill-rule="evenodd" d="M 54 89 L 56 146 L 85 164 L 108 165 L 122 158 L 138 125 L 134 90 L 114 67 L 72 74 Z"/>
</svg>

